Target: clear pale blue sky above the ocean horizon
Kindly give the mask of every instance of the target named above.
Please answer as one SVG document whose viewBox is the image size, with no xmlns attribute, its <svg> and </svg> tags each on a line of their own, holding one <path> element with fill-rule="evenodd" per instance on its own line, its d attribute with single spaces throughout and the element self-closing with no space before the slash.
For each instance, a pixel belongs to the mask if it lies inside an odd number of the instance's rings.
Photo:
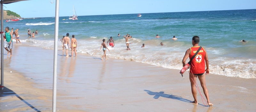
<svg viewBox="0 0 256 112">
<path fill-rule="evenodd" d="M 55 0 L 50 0 L 55 1 Z M 49 0 L 28 0 L 4 4 L 4 10 L 16 12 L 22 18 L 54 17 L 55 3 Z M 256 0 L 60 0 L 60 17 L 77 16 L 190 12 L 256 9 Z"/>
</svg>

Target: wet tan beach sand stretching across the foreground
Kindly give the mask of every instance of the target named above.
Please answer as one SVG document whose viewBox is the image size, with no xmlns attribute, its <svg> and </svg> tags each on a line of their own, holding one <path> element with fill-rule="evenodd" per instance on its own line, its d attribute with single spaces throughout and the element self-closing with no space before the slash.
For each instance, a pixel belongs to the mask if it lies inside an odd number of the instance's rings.
<svg viewBox="0 0 256 112">
<path fill-rule="evenodd" d="M 13 56 L 6 53 L 4 50 L 0 111 L 52 111 L 53 50 L 13 44 Z M 199 92 L 199 104 L 190 103 L 193 96 L 188 72 L 183 79 L 180 70 L 131 60 L 100 59 L 79 53 L 78 57 L 66 58 L 65 52 L 58 51 L 56 111 L 255 111 L 256 79 L 207 75 L 206 86 L 214 104 L 209 107 L 204 106 Z"/>
</svg>

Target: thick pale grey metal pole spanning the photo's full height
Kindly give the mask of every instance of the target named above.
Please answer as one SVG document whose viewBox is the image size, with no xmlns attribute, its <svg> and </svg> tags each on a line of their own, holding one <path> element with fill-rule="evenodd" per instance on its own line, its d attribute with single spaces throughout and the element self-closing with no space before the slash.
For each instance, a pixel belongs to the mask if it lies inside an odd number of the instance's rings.
<svg viewBox="0 0 256 112">
<path fill-rule="evenodd" d="M 54 60 L 53 60 L 52 112 L 56 112 L 57 54 L 58 54 L 58 35 L 59 35 L 59 6 L 60 6 L 60 0 L 56 0 L 55 33 L 54 33 Z"/>
</svg>

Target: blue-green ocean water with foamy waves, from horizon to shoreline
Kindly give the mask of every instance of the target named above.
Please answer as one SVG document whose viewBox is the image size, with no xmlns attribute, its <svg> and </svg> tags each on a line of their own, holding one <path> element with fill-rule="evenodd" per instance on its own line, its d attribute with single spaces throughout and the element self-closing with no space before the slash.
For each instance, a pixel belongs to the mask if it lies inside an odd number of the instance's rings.
<svg viewBox="0 0 256 112">
<path fill-rule="evenodd" d="M 202 12 L 164 12 L 118 15 L 78 16 L 78 20 L 59 19 L 59 40 L 66 33 L 75 35 L 77 52 L 102 56 L 102 39 L 110 36 L 115 47 L 107 56 L 171 69 L 182 68 L 182 58 L 192 47 L 192 37 L 207 51 L 211 73 L 241 78 L 256 78 L 256 9 Z M 4 22 L 4 27 L 19 28 L 22 44 L 54 48 L 55 18 L 24 19 Z M 27 30 L 38 30 L 29 38 Z M 120 33 L 120 37 L 117 34 Z M 131 51 L 126 51 L 124 35 L 130 34 Z M 155 38 L 156 34 L 161 36 Z M 176 36 L 177 41 L 171 38 Z M 240 42 L 246 40 L 246 43 Z M 163 42 L 164 46 L 160 43 Z M 15 40 L 14 40 L 15 43 Z M 59 41 L 59 50 L 62 50 Z M 141 48 L 145 44 L 145 48 Z M 70 53 L 69 53 L 70 54 Z M 187 60 L 188 62 L 188 60 Z M 179 73 L 177 73 L 179 74 Z"/>
</svg>

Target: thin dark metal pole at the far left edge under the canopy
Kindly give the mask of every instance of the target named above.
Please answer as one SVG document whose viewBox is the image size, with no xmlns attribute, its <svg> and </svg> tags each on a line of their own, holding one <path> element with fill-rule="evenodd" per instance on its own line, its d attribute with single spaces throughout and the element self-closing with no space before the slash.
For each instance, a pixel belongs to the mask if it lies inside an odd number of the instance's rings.
<svg viewBox="0 0 256 112">
<path fill-rule="evenodd" d="M 1 0 L 2 2 L 3 0 Z M 1 3 L 1 90 L 4 90 L 4 9 Z"/>
</svg>

